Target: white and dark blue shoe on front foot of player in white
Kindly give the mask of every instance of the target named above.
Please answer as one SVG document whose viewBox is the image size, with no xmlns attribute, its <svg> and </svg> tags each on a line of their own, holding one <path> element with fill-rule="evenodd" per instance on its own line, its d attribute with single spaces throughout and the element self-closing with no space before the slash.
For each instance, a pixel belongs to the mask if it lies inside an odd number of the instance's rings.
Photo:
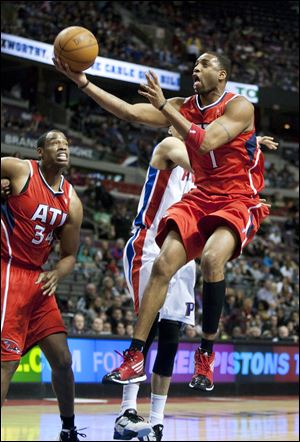
<svg viewBox="0 0 300 442">
<path fill-rule="evenodd" d="M 145 422 L 141 416 L 138 416 L 134 408 L 129 408 L 115 421 L 114 439 L 131 440 L 133 437 L 143 438 L 151 430 L 151 424 Z"/>
</svg>

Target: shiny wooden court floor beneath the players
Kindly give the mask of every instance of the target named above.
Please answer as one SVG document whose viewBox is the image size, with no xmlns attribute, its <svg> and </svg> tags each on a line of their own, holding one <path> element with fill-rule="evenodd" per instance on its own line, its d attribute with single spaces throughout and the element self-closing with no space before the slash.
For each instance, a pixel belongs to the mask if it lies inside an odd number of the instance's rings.
<svg viewBox="0 0 300 442">
<path fill-rule="evenodd" d="M 146 399 L 139 413 L 148 417 Z M 76 400 L 76 425 L 87 427 L 85 441 L 113 440 L 119 400 Z M 60 420 L 56 402 L 6 401 L 1 441 L 57 440 Z M 137 440 L 137 439 L 136 439 Z M 296 397 L 170 398 L 164 441 L 290 441 L 299 440 Z"/>
</svg>

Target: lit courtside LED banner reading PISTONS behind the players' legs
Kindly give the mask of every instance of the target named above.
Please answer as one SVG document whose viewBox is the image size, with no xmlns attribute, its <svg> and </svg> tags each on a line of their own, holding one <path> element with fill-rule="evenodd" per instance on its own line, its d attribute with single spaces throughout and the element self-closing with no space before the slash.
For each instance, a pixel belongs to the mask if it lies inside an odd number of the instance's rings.
<svg viewBox="0 0 300 442">
<path fill-rule="evenodd" d="M 99 383 L 102 377 L 118 367 L 128 340 L 69 338 L 76 383 Z M 197 343 L 180 342 L 176 355 L 172 383 L 189 382 L 194 372 L 194 352 Z M 154 364 L 157 344 L 149 351 L 146 374 Z M 299 349 L 296 345 L 222 343 L 215 347 L 214 380 L 216 383 L 296 383 L 299 379 Z M 39 347 L 25 355 L 13 377 L 13 382 L 51 382 L 49 364 Z"/>
</svg>

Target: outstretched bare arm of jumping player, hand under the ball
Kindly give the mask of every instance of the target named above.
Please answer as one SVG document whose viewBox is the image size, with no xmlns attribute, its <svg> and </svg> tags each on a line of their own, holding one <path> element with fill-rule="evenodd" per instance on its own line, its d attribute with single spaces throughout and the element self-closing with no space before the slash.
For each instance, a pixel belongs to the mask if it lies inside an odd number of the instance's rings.
<svg viewBox="0 0 300 442">
<path fill-rule="evenodd" d="M 99 88 L 89 81 L 84 72 L 73 72 L 66 63 L 59 58 L 53 58 L 56 69 L 77 84 L 79 89 L 91 97 L 103 109 L 112 113 L 121 120 L 147 124 L 153 127 L 167 127 L 167 118 L 148 103 L 130 104 Z M 176 99 L 170 101 L 175 103 Z"/>
</svg>

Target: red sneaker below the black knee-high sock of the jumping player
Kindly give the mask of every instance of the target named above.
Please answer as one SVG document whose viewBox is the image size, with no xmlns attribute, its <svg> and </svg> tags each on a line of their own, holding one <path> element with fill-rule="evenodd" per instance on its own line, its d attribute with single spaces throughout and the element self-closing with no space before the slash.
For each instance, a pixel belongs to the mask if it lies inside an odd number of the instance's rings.
<svg viewBox="0 0 300 442">
<path fill-rule="evenodd" d="M 195 353 L 195 372 L 189 386 L 196 390 L 211 391 L 214 388 L 213 373 L 215 365 L 215 353 L 210 355 L 198 350 Z"/>
</svg>

